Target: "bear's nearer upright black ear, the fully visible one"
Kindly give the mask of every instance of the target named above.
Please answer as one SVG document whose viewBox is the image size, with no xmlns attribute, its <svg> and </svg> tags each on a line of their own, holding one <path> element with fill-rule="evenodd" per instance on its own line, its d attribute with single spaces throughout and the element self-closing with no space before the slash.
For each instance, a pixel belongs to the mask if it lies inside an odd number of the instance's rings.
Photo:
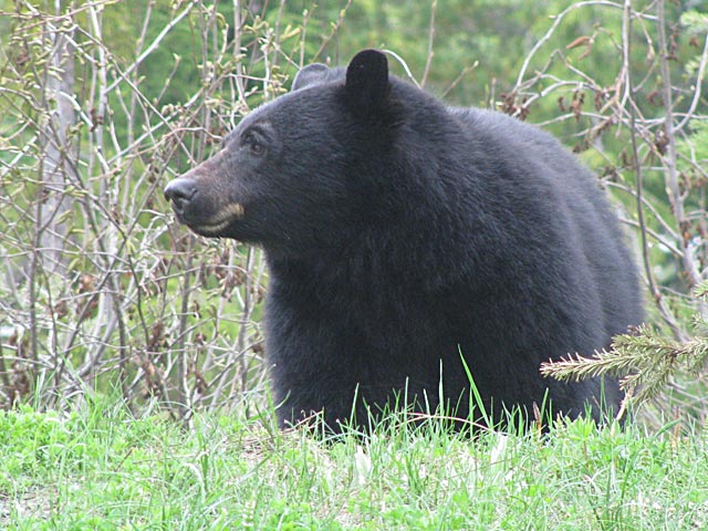
<svg viewBox="0 0 708 531">
<path fill-rule="evenodd" d="M 354 55 L 346 67 L 345 90 L 354 111 L 368 114 L 383 108 L 391 91 L 386 55 L 377 50 Z"/>
</svg>

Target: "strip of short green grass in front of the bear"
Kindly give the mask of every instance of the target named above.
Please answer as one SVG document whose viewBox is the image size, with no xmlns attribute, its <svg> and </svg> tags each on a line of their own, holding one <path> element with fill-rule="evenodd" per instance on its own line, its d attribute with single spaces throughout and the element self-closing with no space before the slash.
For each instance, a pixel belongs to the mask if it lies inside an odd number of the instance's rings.
<svg viewBox="0 0 708 531">
<path fill-rule="evenodd" d="M 0 529 L 708 529 L 708 434 L 546 436 L 388 425 L 313 438 L 270 421 L 183 429 L 113 403 L 0 413 Z"/>
</svg>

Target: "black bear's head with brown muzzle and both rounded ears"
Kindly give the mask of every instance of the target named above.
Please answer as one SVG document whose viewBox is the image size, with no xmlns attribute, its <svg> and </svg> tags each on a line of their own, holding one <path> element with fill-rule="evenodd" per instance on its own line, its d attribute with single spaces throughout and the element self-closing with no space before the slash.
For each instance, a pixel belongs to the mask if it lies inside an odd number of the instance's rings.
<svg viewBox="0 0 708 531">
<path fill-rule="evenodd" d="M 291 93 L 253 111 L 165 196 L 179 221 L 202 236 L 288 252 L 334 244 L 365 220 L 371 160 L 362 155 L 388 91 L 379 52 L 360 53 L 346 73 L 303 69 Z"/>
</svg>

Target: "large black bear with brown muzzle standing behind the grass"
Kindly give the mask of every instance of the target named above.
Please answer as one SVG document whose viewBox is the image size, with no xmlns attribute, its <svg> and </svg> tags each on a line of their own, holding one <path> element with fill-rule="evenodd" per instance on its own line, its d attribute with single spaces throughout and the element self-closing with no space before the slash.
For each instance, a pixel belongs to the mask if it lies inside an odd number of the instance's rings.
<svg viewBox="0 0 708 531">
<path fill-rule="evenodd" d="M 497 420 L 534 404 L 600 419 L 621 399 L 614 381 L 539 373 L 643 319 L 596 179 L 549 134 L 389 75 L 378 51 L 303 69 L 165 195 L 195 232 L 262 246 L 281 425 L 404 404 L 479 420 L 468 372 Z"/>
</svg>

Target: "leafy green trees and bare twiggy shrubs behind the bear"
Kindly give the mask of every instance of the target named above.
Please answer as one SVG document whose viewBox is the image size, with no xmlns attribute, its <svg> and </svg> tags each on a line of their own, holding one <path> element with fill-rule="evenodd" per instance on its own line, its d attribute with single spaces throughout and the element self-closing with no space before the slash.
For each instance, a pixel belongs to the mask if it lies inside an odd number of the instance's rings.
<svg viewBox="0 0 708 531">
<path fill-rule="evenodd" d="M 267 407 L 260 252 L 178 227 L 162 189 L 303 64 L 377 46 L 410 82 L 538 123 L 596 170 L 634 235 L 652 333 L 668 345 L 645 374 L 676 360 L 694 369 L 645 418 L 673 405 L 705 418 L 695 374 L 708 348 L 693 319 L 707 315 L 694 294 L 708 277 L 702 2 L 0 0 L 0 407 L 64 409 L 117 393 L 134 414 L 187 423 Z"/>
</svg>

